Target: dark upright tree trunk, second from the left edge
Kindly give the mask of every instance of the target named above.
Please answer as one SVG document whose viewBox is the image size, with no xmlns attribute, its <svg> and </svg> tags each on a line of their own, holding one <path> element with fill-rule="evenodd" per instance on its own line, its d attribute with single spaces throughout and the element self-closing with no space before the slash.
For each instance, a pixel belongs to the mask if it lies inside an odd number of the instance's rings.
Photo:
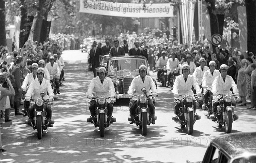
<svg viewBox="0 0 256 163">
<path fill-rule="evenodd" d="M 27 23 L 27 10 L 25 8 L 24 0 L 20 0 L 20 11 L 21 11 L 21 19 L 20 19 L 20 43 L 19 47 L 22 48 L 26 42 L 26 23 Z"/>
</svg>

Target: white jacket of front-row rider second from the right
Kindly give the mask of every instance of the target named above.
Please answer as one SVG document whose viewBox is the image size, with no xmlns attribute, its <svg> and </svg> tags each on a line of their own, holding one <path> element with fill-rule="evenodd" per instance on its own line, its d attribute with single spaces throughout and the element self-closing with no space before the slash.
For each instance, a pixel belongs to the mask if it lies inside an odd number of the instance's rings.
<svg viewBox="0 0 256 163">
<path fill-rule="evenodd" d="M 172 93 L 173 94 L 180 94 L 180 95 L 194 95 L 194 92 L 192 91 L 192 86 L 194 86 L 196 93 L 201 92 L 202 90 L 198 86 L 198 83 L 195 80 L 195 77 L 192 75 L 189 75 L 187 78 L 187 81 L 185 82 L 185 79 L 183 77 L 183 74 L 176 77 L 175 82 L 173 84 Z"/>
</svg>

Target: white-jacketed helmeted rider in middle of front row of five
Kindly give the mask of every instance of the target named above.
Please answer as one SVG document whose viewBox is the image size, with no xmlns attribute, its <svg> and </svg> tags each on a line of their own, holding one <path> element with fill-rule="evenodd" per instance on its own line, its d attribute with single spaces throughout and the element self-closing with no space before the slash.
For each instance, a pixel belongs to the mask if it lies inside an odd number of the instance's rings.
<svg viewBox="0 0 256 163">
<path fill-rule="evenodd" d="M 146 91 L 149 92 L 149 89 L 151 88 L 152 90 L 152 97 L 156 97 L 157 96 L 157 87 L 153 81 L 153 79 L 151 78 L 151 76 L 146 75 L 147 74 L 147 67 L 145 65 L 141 65 L 139 67 L 139 72 L 140 75 L 138 75 L 137 77 L 134 77 L 134 79 L 131 82 L 131 85 L 129 86 L 128 89 L 128 97 L 132 97 L 133 94 L 134 95 L 142 95 L 143 92 L 141 91 L 141 89 L 143 87 L 146 88 Z M 135 93 L 134 93 L 135 92 Z M 137 100 L 130 100 L 130 116 L 131 116 L 131 120 L 135 119 L 135 111 L 136 111 L 136 102 Z M 152 99 L 148 99 L 148 108 L 150 110 L 150 120 L 152 119 L 151 123 L 154 125 L 155 124 L 155 118 L 154 118 L 154 114 L 155 114 L 155 106 L 153 103 Z"/>
</svg>

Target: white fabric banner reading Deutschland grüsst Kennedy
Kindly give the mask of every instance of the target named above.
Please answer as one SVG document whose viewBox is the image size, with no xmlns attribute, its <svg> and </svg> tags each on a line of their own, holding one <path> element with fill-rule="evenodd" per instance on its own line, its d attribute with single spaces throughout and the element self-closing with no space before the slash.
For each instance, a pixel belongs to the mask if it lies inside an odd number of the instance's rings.
<svg viewBox="0 0 256 163">
<path fill-rule="evenodd" d="M 116 17 L 173 17 L 170 3 L 113 3 L 101 0 L 80 0 L 79 12 Z"/>
</svg>

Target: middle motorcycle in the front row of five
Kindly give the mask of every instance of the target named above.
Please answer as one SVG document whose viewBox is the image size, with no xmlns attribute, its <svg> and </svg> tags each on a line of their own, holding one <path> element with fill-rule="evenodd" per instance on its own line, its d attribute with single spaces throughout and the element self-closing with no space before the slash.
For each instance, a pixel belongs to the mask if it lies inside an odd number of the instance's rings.
<svg viewBox="0 0 256 163">
<path fill-rule="evenodd" d="M 151 99 L 152 95 L 148 95 L 144 87 L 141 90 L 143 95 L 134 95 L 132 97 L 133 100 L 137 100 L 135 119 L 132 120 L 128 117 L 128 121 L 130 121 L 130 124 L 135 122 L 135 124 L 140 126 L 140 129 L 142 129 L 142 135 L 147 135 L 147 125 L 150 126 L 152 123 L 152 118 L 150 118 L 150 111 L 148 108 L 148 99 Z M 157 116 L 154 116 L 154 120 L 157 120 Z"/>
</svg>

